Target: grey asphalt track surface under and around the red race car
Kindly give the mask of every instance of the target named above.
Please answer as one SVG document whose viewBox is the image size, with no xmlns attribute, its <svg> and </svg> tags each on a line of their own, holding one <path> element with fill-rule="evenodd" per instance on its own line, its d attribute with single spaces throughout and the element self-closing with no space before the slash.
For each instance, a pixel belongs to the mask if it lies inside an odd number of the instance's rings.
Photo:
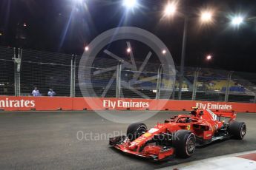
<svg viewBox="0 0 256 170">
<path fill-rule="evenodd" d="M 151 127 L 171 115 L 176 114 L 160 112 L 144 123 Z M 94 112 L 0 112 L 0 169 L 159 169 L 256 150 L 256 114 L 241 113 L 237 120 L 246 122 L 244 140 L 226 140 L 197 148 L 188 159 L 174 157 L 152 163 L 116 152 L 108 146 L 104 135 L 99 140 L 99 134 L 113 135 L 116 130 L 125 133 L 128 125 L 112 123 Z M 92 135 L 81 139 L 85 133 Z"/>
</svg>

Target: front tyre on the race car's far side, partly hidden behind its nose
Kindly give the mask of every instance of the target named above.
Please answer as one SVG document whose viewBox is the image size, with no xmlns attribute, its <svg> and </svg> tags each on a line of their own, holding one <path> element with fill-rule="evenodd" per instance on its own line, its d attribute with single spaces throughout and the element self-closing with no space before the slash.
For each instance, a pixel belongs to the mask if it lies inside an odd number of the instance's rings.
<svg viewBox="0 0 256 170">
<path fill-rule="evenodd" d="M 140 137 L 143 133 L 147 131 L 147 126 L 144 123 L 132 123 L 128 126 L 127 137 L 129 140 L 133 141 Z"/>
</svg>

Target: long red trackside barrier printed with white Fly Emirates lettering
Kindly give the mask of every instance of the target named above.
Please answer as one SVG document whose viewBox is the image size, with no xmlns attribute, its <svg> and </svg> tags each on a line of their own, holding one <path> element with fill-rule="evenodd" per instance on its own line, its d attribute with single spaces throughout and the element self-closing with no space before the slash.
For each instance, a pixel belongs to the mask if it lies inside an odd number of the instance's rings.
<svg viewBox="0 0 256 170">
<path fill-rule="evenodd" d="M 93 104 L 92 104 L 93 103 Z M 164 103 L 164 104 L 163 104 Z M 0 109 L 19 110 L 173 110 L 190 111 L 191 107 L 235 112 L 256 112 L 256 103 L 211 101 L 171 101 L 130 98 L 60 98 L 0 96 Z"/>
</svg>

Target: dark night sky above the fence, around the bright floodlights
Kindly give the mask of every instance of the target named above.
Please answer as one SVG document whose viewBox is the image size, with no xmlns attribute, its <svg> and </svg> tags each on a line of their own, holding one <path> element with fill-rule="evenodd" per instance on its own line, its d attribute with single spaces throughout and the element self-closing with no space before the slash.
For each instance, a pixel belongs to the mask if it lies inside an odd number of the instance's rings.
<svg viewBox="0 0 256 170">
<path fill-rule="evenodd" d="M 129 15 L 125 15 L 119 0 L 84 0 L 87 7 L 73 1 L 1 0 L 0 28 L 5 29 L 6 35 L 2 44 L 18 46 L 17 24 L 26 23 L 24 48 L 82 54 L 85 45 L 105 30 L 133 26 L 157 35 L 171 51 L 174 62 L 180 64 L 183 18 L 174 16 L 160 20 L 166 1 L 140 0 L 142 7 Z M 214 9 L 213 24 L 200 27 L 198 13 L 202 8 Z M 246 18 L 256 16 L 255 0 L 182 0 L 179 12 L 191 16 L 186 66 L 256 72 L 256 19 L 249 19 L 239 29 L 230 27 L 228 19 L 232 13 L 246 14 Z M 62 44 L 69 18 L 70 25 Z M 206 66 L 204 58 L 208 54 L 213 55 L 214 60 Z"/>
</svg>

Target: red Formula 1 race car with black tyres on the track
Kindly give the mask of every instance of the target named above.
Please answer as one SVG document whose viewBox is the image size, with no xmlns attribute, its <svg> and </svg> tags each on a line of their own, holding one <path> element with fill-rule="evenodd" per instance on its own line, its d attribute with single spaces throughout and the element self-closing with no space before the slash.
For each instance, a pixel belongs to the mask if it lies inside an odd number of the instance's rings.
<svg viewBox="0 0 256 170">
<path fill-rule="evenodd" d="M 109 144 L 128 154 L 163 160 L 171 155 L 190 157 L 195 146 L 246 135 L 246 123 L 237 122 L 234 112 L 193 109 L 191 115 L 171 117 L 149 130 L 144 123 L 133 123 L 127 136 L 110 138 Z"/>
</svg>

